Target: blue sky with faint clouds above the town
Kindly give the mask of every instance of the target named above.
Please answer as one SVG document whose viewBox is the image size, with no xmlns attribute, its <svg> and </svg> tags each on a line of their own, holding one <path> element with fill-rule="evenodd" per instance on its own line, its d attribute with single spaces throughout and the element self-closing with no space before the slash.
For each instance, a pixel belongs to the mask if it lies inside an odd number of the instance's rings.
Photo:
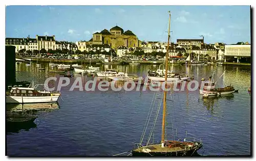
<svg viewBox="0 0 256 161">
<path fill-rule="evenodd" d="M 88 41 L 118 25 L 141 41 L 166 42 L 167 11 L 172 42 L 203 35 L 205 43 L 250 43 L 250 6 L 7 6 L 6 37 Z"/>
</svg>

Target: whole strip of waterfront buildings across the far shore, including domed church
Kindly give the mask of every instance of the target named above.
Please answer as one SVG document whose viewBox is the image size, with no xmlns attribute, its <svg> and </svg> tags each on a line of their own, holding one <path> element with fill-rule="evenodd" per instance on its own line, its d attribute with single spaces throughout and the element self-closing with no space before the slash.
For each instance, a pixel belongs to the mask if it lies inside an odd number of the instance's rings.
<svg viewBox="0 0 256 161">
<path fill-rule="evenodd" d="M 77 41 L 67 42 L 67 41 L 56 41 L 55 36 L 38 36 L 36 38 L 6 38 L 6 45 L 13 45 L 16 47 L 16 52 L 20 49 L 41 50 L 49 49 L 52 50 L 62 50 L 68 49 L 72 51 L 106 51 L 109 52 L 111 48 L 115 49 L 118 57 L 124 57 L 129 55 L 136 50 L 144 51 L 150 55 L 150 53 L 164 52 L 167 50 L 166 42 L 155 42 L 147 41 L 141 42 L 137 39 L 131 31 L 123 32 L 121 28 L 115 26 L 109 32 L 104 29 L 100 33 L 93 34 L 93 38 L 89 41 Z M 118 32 L 117 32 L 118 31 Z M 96 35 L 96 36 L 95 36 Z M 104 39 L 103 39 L 103 37 Z M 122 42 L 127 44 L 122 44 L 118 40 L 122 37 Z M 129 37 L 130 36 L 130 37 Z M 110 38 L 110 40 L 105 40 Z M 130 38 L 133 38 L 134 41 L 130 41 Z M 106 41 L 106 43 L 104 42 Z M 130 44 L 129 44 L 130 41 Z M 136 43 L 135 43 L 136 42 Z M 112 44 L 113 43 L 113 44 Z M 133 45 L 134 44 L 134 45 Z M 241 58 L 241 57 L 250 57 L 250 44 L 248 42 L 238 42 L 237 44 L 227 45 L 224 43 L 215 43 L 215 44 L 205 44 L 204 39 L 177 39 L 177 43 L 169 44 L 169 56 L 177 57 L 184 56 L 185 53 L 195 53 L 208 55 L 211 59 L 223 60 L 228 57 Z"/>
</svg>

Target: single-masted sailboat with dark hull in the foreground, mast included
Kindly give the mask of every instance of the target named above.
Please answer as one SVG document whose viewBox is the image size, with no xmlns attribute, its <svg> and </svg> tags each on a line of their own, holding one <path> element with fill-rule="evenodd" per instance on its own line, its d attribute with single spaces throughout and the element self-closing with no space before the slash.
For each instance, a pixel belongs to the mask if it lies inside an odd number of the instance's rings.
<svg viewBox="0 0 256 161">
<path fill-rule="evenodd" d="M 169 13 L 169 26 L 168 26 L 168 43 L 170 37 L 170 11 Z M 168 50 L 165 58 L 165 88 L 167 83 L 167 69 L 168 69 Z M 159 144 L 146 144 L 142 146 L 139 144 L 137 149 L 132 150 L 133 156 L 186 156 L 195 153 L 203 144 L 202 141 L 168 141 L 166 138 L 166 90 L 163 92 L 163 115 L 162 115 L 162 135 L 161 143 Z"/>
</svg>

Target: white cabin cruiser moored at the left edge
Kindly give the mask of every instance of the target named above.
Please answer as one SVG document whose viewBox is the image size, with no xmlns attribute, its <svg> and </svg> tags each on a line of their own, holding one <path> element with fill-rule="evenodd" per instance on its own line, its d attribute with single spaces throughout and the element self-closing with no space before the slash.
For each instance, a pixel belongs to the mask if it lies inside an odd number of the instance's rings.
<svg viewBox="0 0 256 161">
<path fill-rule="evenodd" d="M 44 86 L 44 84 L 38 84 L 34 86 L 32 82 L 28 88 L 13 87 L 9 94 L 6 95 L 6 103 L 46 103 L 57 102 L 60 97 L 59 92 L 40 91 L 36 90 L 38 86 Z"/>
</svg>

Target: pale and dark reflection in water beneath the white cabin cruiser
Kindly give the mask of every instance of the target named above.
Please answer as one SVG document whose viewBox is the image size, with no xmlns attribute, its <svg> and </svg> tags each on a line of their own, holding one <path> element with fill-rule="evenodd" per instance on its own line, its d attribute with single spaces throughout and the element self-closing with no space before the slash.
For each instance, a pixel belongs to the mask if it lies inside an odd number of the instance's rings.
<svg viewBox="0 0 256 161">
<path fill-rule="evenodd" d="M 58 109 L 57 103 L 6 104 L 6 133 L 18 133 L 38 126 L 37 112 Z"/>
</svg>

